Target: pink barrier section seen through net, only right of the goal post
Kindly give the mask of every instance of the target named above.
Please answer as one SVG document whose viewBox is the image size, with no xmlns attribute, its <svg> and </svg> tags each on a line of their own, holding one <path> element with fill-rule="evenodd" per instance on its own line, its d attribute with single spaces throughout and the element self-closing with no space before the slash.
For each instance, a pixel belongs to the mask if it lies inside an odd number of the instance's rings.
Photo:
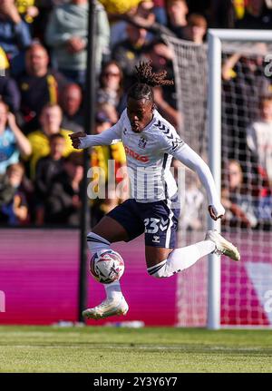
<svg viewBox="0 0 272 391">
<path fill-rule="evenodd" d="M 222 257 L 221 324 L 272 326 L 272 232 L 228 234 L 239 262 Z"/>
</svg>

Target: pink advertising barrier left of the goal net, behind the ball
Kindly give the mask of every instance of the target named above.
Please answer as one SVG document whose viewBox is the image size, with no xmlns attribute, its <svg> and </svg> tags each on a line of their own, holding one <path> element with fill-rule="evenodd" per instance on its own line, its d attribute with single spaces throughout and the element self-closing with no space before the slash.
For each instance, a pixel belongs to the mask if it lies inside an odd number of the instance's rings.
<svg viewBox="0 0 272 391">
<path fill-rule="evenodd" d="M 174 325 L 176 279 L 158 280 L 148 275 L 143 238 L 112 248 L 125 260 L 121 286 L 130 311 L 126 317 L 111 318 L 111 322 L 141 320 L 145 325 Z M 76 321 L 78 279 L 78 230 L 0 230 L 0 291 L 5 294 L 0 324 Z M 91 276 L 87 279 L 88 306 L 95 306 L 104 298 L 104 289 Z M 108 321 L 89 324 L 99 326 Z"/>
</svg>

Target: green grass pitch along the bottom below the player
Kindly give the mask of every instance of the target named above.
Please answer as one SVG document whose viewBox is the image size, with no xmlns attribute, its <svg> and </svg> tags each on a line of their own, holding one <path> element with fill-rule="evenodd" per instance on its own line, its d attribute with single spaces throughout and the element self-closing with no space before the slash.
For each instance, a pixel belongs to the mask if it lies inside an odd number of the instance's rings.
<svg viewBox="0 0 272 391">
<path fill-rule="evenodd" d="M 271 330 L 0 327 L 0 372 L 272 372 Z"/>
</svg>

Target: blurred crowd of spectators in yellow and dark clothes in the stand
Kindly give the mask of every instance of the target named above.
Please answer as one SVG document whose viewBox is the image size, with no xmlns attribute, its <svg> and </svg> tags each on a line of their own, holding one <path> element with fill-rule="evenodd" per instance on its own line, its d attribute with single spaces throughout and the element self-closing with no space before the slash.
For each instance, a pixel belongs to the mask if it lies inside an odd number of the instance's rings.
<svg viewBox="0 0 272 391">
<path fill-rule="evenodd" d="M 271 0 L 101 0 L 95 8 L 92 71 L 97 102 L 92 132 L 97 133 L 118 121 L 126 91 L 135 82 L 134 66 L 141 60 L 151 60 L 154 71 L 167 70 L 174 78 L 173 54 L 162 34 L 203 44 L 208 27 L 272 27 Z M 88 10 L 88 0 L 0 0 L 2 226 L 80 224 L 83 152 L 73 150 L 69 134 L 84 130 Z M 250 155 L 257 168 L 250 181 L 260 202 L 255 208 L 249 205 L 244 155 L 226 157 L 222 189 L 228 224 L 238 221 L 242 227 L 253 228 L 260 225 L 262 214 L 270 213 L 271 219 L 272 203 L 272 98 L 261 66 L 246 64 L 234 54 L 222 70 L 228 91 L 239 88 L 238 70 L 246 67 L 249 82 L 244 94 L 249 99 L 256 87 L 259 95 L 258 112 L 251 111 L 253 117 L 240 115 L 250 119 L 244 124 L 241 151 Z M 251 73 L 254 81 L 250 82 Z M 154 96 L 161 115 L 179 128 L 182 113 L 174 86 L 155 88 Z M 109 160 L 115 162 L 115 171 L 125 167 L 121 143 L 90 151 L 90 166 L 104 169 L 106 175 Z M 90 200 L 92 225 L 126 197 L 123 191 L 106 200 Z M 192 208 L 198 204 L 200 210 L 202 201 L 199 186 L 189 187 Z M 192 217 L 188 226 L 198 229 L 197 218 Z"/>
</svg>

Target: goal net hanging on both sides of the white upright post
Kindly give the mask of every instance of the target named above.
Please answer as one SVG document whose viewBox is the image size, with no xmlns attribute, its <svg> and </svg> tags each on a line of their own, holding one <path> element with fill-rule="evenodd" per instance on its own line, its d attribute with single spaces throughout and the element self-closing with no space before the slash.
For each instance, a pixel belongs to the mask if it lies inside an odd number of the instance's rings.
<svg viewBox="0 0 272 391">
<path fill-rule="evenodd" d="M 174 52 L 183 118 L 180 135 L 208 161 L 208 45 L 165 39 Z M 221 198 L 226 209 L 221 231 L 237 245 L 241 260 L 221 257 L 219 323 L 221 327 L 271 327 L 272 114 L 270 121 L 267 117 L 272 110 L 272 88 L 266 61 L 272 52 L 261 40 L 222 41 L 221 47 Z M 270 140 L 264 136 L 267 132 Z M 260 134 L 266 141 L 260 140 Z M 203 239 L 208 228 L 206 195 L 196 175 L 186 170 L 185 183 L 180 246 Z M 207 325 L 208 267 L 208 259 L 200 259 L 180 273 L 177 326 Z"/>
</svg>

